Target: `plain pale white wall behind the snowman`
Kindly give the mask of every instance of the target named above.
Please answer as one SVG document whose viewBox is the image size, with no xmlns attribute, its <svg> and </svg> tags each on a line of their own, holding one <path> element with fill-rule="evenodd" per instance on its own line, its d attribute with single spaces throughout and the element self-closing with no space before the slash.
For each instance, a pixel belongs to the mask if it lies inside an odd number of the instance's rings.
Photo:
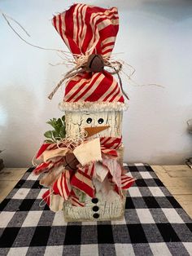
<svg viewBox="0 0 192 256">
<path fill-rule="evenodd" d="M 38 46 L 67 50 L 50 20 L 74 1 L 0 0 L 2 11 L 20 21 Z M 79 1 L 76 1 L 79 2 Z M 192 1 L 84 1 L 119 8 L 120 32 L 114 53 L 132 64 L 134 80 L 165 86 L 135 87 L 124 79 L 129 111 L 124 113 L 125 161 L 181 164 L 192 155 Z M 21 32 L 20 32 L 21 33 Z M 22 33 L 24 36 L 24 33 Z M 25 37 L 26 38 L 26 37 Z M 7 166 L 30 166 L 46 121 L 62 115 L 59 91 L 47 95 L 67 71 L 53 51 L 41 51 L 17 38 L 0 17 L 0 149 Z"/>
</svg>

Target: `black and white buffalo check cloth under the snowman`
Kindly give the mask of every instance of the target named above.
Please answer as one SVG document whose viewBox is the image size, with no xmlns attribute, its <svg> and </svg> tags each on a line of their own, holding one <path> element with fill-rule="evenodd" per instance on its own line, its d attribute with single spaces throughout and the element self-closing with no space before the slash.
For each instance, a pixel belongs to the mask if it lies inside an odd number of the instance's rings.
<svg viewBox="0 0 192 256">
<path fill-rule="evenodd" d="M 127 166 L 137 178 L 122 221 L 65 223 L 41 208 L 46 189 L 29 169 L 0 205 L 0 255 L 192 255 L 192 220 L 151 166 Z"/>
</svg>

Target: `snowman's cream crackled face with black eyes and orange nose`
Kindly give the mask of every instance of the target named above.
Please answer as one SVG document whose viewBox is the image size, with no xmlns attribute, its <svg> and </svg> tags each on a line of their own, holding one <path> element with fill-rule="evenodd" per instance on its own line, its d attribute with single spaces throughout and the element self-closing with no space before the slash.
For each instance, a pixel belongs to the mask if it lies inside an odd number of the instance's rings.
<svg viewBox="0 0 192 256">
<path fill-rule="evenodd" d="M 96 137 L 120 137 L 121 136 L 121 122 L 122 112 L 66 112 L 66 132 L 67 136 L 75 137 L 76 134 L 83 133 L 86 128 L 99 127 L 102 131 L 89 137 L 90 139 Z"/>
</svg>

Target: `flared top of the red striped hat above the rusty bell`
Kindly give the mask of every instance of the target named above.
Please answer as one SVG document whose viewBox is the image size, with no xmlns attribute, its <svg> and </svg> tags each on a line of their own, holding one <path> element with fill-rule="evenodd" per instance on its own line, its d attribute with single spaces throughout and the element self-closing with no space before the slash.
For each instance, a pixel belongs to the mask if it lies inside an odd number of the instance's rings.
<svg viewBox="0 0 192 256">
<path fill-rule="evenodd" d="M 74 4 L 52 20 L 55 29 L 73 54 L 111 53 L 119 30 L 116 7 L 104 9 Z"/>
</svg>

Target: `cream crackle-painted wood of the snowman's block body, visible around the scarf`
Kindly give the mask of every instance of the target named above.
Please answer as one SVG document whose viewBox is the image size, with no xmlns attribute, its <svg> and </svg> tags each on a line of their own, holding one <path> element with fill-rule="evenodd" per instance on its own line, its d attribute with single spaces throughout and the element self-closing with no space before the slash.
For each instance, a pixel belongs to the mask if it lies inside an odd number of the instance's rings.
<svg viewBox="0 0 192 256">
<path fill-rule="evenodd" d="M 97 135 L 91 136 L 89 139 L 96 137 L 121 137 L 122 130 L 121 111 L 111 112 L 66 112 L 66 132 L 67 136 L 75 138 L 84 132 L 85 127 L 94 126 L 110 126 L 107 130 L 99 132 Z M 90 118 L 88 120 L 88 118 Z M 100 124 L 99 120 L 103 119 Z M 91 122 L 89 122 L 91 120 Z M 118 161 L 123 165 L 124 148 L 118 149 Z M 98 192 L 98 183 L 94 183 L 96 188 L 96 198 L 98 202 L 95 204 L 89 196 L 86 196 L 85 207 L 72 206 L 68 201 L 63 204 L 63 214 L 66 221 L 93 221 L 93 220 L 111 220 L 120 219 L 124 216 L 125 195 L 121 198 L 116 192 L 111 192 L 103 196 Z M 97 206 L 96 208 L 94 206 Z M 95 209 L 97 211 L 95 211 Z"/>
</svg>

